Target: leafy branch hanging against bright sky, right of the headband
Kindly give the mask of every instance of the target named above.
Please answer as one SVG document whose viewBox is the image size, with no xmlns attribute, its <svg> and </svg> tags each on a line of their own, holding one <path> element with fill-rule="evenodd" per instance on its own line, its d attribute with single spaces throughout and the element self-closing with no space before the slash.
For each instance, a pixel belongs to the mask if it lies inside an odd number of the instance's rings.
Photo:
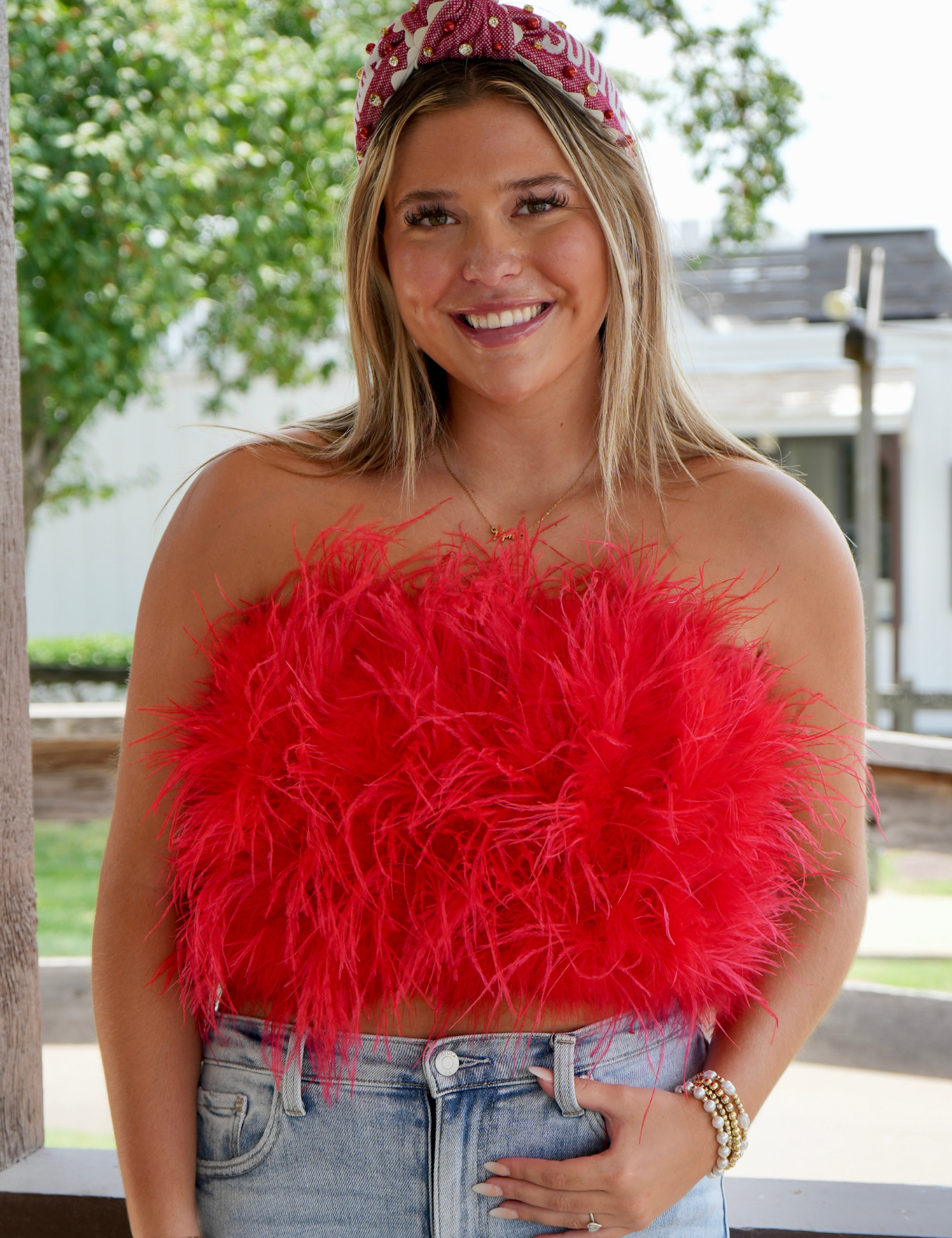
<svg viewBox="0 0 952 1238">
<path fill-rule="evenodd" d="M 797 132 L 800 88 L 760 46 L 776 11 L 756 0 L 734 27 L 701 26 L 673 0 L 583 0 L 607 17 L 628 17 L 646 33 L 671 37 L 673 71 L 665 84 L 625 74 L 624 87 L 665 118 L 695 157 L 699 181 L 720 181 L 723 213 L 714 245 L 749 248 L 771 225 L 765 207 L 786 189 L 780 147 Z"/>
</svg>

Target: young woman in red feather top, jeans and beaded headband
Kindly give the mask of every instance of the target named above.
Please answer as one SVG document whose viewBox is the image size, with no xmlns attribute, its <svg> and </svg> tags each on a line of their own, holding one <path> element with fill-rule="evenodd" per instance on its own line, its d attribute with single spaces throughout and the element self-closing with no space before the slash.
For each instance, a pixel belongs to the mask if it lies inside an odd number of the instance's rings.
<svg viewBox="0 0 952 1238">
<path fill-rule="evenodd" d="M 863 919 L 853 563 L 687 394 L 589 51 L 415 6 L 355 124 L 359 399 L 210 463 L 142 595 L 94 943 L 132 1232 L 723 1236 Z"/>
</svg>

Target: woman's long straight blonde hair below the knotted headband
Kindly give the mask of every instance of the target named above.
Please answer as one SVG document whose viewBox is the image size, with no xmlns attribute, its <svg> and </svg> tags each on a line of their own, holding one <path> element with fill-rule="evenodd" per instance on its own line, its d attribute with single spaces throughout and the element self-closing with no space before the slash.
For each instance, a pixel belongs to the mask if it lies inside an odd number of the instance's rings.
<svg viewBox="0 0 952 1238">
<path fill-rule="evenodd" d="M 671 277 L 647 173 L 605 129 L 532 69 L 510 62 L 448 62 L 400 87 L 353 181 L 344 230 L 344 272 L 358 399 L 339 412 L 300 421 L 267 441 L 337 472 L 402 469 L 412 493 L 420 463 L 443 431 L 446 374 L 421 354 L 400 318 L 383 260 L 384 196 L 397 147 L 421 116 L 487 98 L 531 108 L 555 139 L 595 210 L 612 265 L 602 328 L 598 453 L 603 501 L 615 505 L 623 475 L 660 496 L 661 470 L 697 456 L 761 461 L 693 401 L 669 339 Z M 288 431 L 308 428 L 314 444 Z"/>
</svg>

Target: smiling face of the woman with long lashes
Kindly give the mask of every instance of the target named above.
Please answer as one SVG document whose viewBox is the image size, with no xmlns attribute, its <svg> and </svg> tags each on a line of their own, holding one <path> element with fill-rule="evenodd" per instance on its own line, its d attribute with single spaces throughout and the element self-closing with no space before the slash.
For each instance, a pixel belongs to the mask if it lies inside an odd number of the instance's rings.
<svg viewBox="0 0 952 1238">
<path fill-rule="evenodd" d="M 592 385 L 610 269 L 602 228 L 548 130 L 490 98 L 423 115 L 385 197 L 400 316 L 463 391 L 519 405 Z M 461 389 L 463 389 L 461 391 Z"/>
</svg>

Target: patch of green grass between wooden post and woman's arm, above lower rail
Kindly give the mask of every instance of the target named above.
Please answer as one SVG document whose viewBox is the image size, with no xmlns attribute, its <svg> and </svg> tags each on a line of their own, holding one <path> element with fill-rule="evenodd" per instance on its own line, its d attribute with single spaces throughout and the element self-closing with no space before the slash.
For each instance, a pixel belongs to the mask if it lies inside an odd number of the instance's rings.
<svg viewBox="0 0 952 1238">
<path fill-rule="evenodd" d="M 33 862 L 41 954 L 90 953 L 108 832 L 108 821 L 36 822 Z"/>
</svg>

